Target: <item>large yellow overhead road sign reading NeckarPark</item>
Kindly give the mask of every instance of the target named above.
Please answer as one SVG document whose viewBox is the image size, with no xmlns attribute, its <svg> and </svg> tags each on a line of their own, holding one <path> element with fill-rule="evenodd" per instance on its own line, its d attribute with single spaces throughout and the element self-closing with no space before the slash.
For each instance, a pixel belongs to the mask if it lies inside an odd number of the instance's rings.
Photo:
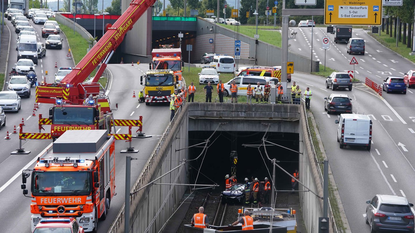
<svg viewBox="0 0 415 233">
<path fill-rule="evenodd" d="M 326 25 L 381 25 L 382 0 L 326 0 Z"/>
</svg>

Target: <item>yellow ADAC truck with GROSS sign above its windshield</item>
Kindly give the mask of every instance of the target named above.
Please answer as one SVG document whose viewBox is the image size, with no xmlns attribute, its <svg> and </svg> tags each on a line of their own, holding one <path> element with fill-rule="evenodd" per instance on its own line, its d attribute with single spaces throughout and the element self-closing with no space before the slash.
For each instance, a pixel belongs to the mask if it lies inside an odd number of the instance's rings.
<svg viewBox="0 0 415 233">
<path fill-rule="evenodd" d="M 140 77 L 140 84 L 144 85 L 146 105 L 170 102 L 171 94 L 177 88 L 178 76 L 175 76 L 172 70 L 147 70 L 146 74 Z"/>
</svg>

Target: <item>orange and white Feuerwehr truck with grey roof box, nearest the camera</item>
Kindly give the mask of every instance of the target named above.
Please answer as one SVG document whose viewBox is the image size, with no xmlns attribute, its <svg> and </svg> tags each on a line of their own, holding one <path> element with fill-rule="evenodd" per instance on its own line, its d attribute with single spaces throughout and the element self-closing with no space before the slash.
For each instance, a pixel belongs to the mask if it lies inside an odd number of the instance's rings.
<svg viewBox="0 0 415 233">
<path fill-rule="evenodd" d="M 30 182 L 31 195 L 26 187 Z M 30 197 L 32 231 L 41 219 L 73 217 L 86 232 L 97 232 L 115 193 L 115 138 L 106 130 L 68 130 L 22 171 L 23 195 Z"/>
</svg>

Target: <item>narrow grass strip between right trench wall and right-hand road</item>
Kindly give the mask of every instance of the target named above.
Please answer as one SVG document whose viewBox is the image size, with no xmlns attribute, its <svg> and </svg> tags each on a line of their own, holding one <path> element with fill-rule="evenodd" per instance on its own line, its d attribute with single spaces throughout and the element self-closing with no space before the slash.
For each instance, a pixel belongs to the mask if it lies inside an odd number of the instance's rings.
<svg viewBox="0 0 415 233">
<path fill-rule="evenodd" d="M 308 123 L 309 123 L 312 143 L 315 145 L 314 150 L 317 155 L 317 159 L 319 162 L 322 162 L 325 159 L 325 157 L 321 153 L 320 146 L 318 146 L 319 142 L 317 140 L 317 135 L 314 130 L 314 124 L 312 123 L 310 116 L 308 117 Z M 320 169 L 323 171 L 324 170 L 323 163 L 319 163 L 319 165 L 320 165 Z M 340 229 L 342 232 L 344 232 L 346 228 L 344 227 L 342 217 L 340 216 L 339 205 L 337 204 L 336 197 L 334 195 L 334 189 L 335 188 L 332 186 L 331 182 L 329 181 L 329 201 L 330 201 L 330 206 L 332 207 L 334 221 L 336 221 L 337 228 Z"/>
</svg>

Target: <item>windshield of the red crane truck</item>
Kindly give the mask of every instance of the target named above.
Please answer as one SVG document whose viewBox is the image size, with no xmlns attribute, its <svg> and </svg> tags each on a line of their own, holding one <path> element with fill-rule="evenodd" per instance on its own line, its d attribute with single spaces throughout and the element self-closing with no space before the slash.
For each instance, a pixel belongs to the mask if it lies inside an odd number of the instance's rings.
<svg viewBox="0 0 415 233">
<path fill-rule="evenodd" d="M 94 109 L 92 107 L 55 107 L 53 124 L 94 124 Z"/>
</svg>

